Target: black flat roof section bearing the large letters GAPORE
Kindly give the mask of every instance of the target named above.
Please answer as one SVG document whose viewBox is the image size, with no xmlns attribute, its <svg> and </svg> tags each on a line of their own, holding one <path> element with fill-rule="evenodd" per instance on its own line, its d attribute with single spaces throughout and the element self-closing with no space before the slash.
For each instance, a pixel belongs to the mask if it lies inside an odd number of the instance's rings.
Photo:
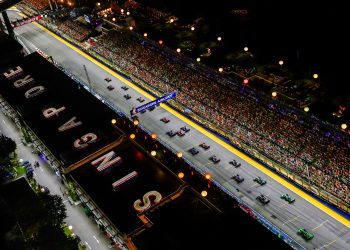
<svg viewBox="0 0 350 250">
<path fill-rule="evenodd" d="M 65 167 L 120 137 L 111 125 L 115 113 L 39 54 L 26 56 L 8 70 L 16 66 L 24 73 L 13 79 L 8 80 L 2 74 L 7 70 L 0 72 L 0 93 Z M 14 82 L 27 75 L 34 81 L 16 88 Z M 45 92 L 26 98 L 25 93 L 35 86 L 43 86 Z M 45 109 L 60 107 L 65 110 L 58 116 L 44 117 Z M 58 128 L 73 117 L 76 117 L 75 122 L 82 124 L 60 132 Z M 98 140 L 86 148 L 76 149 L 74 142 L 87 133 L 96 134 Z"/>
</svg>

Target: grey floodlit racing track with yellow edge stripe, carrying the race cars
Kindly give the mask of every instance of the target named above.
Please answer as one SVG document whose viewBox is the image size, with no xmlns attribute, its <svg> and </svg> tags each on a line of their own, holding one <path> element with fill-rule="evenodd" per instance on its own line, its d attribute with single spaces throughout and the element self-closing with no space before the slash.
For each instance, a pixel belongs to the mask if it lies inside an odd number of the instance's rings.
<svg viewBox="0 0 350 250">
<path fill-rule="evenodd" d="M 19 16 L 17 13 L 11 12 L 9 17 L 17 19 Z M 83 65 L 85 65 L 93 88 L 126 114 L 129 114 L 132 107 L 140 106 L 140 103 L 136 100 L 138 97 L 143 96 L 145 98 L 144 103 L 152 98 L 145 91 L 127 82 L 121 76 L 36 23 L 18 27 L 15 29 L 15 33 L 28 51 L 33 52 L 36 48 L 42 50 L 77 77 L 88 82 L 83 68 Z M 110 77 L 112 81 L 107 83 L 104 81 L 106 77 Z M 109 84 L 113 85 L 115 89 L 109 91 L 107 89 Z M 123 85 L 129 85 L 129 90 L 122 90 L 121 86 Z M 123 97 L 126 93 L 130 94 L 132 98 L 126 100 Z M 307 249 L 340 250 L 349 248 L 350 221 L 347 218 L 329 209 L 181 114 L 165 105 L 161 105 L 152 112 L 147 111 L 138 116 L 142 126 L 155 132 L 159 138 L 165 140 L 175 150 L 183 152 L 184 157 L 204 172 L 211 173 L 214 180 L 240 197 L 269 221 L 293 237 L 299 244 Z M 170 119 L 169 123 L 164 124 L 160 121 L 164 116 Z M 185 136 L 179 137 L 176 135 L 170 138 L 166 134 L 170 129 L 179 130 L 185 124 L 191 129 Z M 210 145 L 210 149 L 205 151 L 198 147 L 202 142 Z M 188 152 L 188 149 L 193 146 L 199 149 L 199 154 L 195 156 Z M 209 157 L 214 154 L 221 159 L 218 164 L 213 164 L 209 160 Z M 234 168 L 228 163 L 232 159 L 241 162 L 242 166 Z M 245 179 L 244 182 L 236 183 L 231 179 L 234 174 L 241 175 Z M 265 179 L 267 184 L 260 186 L 254 182 L 253 179 L 257 176 Z M 289 204 L 282 200 L 280 195 L 283 193 L 295 197 L 295 203 Z M 271 200 L 270 203 L 265 206 L 260 204 L 256 200 L 256 197 L 260 194 L 268 196 Z M 305 241 L 297 235 L 296 231 L 300 227 L 304 227 L 313 233 L 315 235 L 314 239 Z"/>
</svg>

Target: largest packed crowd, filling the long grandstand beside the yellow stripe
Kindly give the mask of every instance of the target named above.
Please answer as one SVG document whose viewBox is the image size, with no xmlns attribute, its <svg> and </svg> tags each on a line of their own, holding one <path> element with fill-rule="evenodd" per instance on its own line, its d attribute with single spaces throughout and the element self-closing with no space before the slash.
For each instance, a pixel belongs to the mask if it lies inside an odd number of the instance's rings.
<svg viewBox="0 0 350 250">
<path fill-rule="evenodd" d="M 216 82 L 155 53 L 127 33 L 112 30 L 91 48 L 201 117 L 336 197 L 350 203 L 349 141 L 258 96 Z M 326 135 L 325 135 L 326 133 Z M 348 143 L 348 144 L 347 144 Z"/>
</svg>

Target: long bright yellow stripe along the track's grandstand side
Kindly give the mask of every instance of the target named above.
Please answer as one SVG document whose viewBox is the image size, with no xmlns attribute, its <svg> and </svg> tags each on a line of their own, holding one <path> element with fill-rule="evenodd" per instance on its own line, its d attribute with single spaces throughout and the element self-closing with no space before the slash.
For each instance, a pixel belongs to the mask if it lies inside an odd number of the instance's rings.
<svg viewBox="0 0 350 250">
<path fill-rule="evenodd" d="M 136 84 L 126 80 L 124 77 L 122 77 L 121 75 L 119 75 L 115 71 L 111 70 L 107 66 L 105 66 L 102 63 L 98 62 L 97 60 L 95 60 L 94 58 L 92 58 L 91 56 L 86 54 L 85 52 L 83 52 L 80 49 L 76 48 L 74 45 L 66 42 L 63 38 L 59 37 L 58 35 L 54 34 L 50 30 L 46 29 L 44 26 L 40 25 L 37 22 L 34 22 L 33 24 L 36 25 L 37 27 L 39 27 L 40 29 L 46 31 L 48 34 L 50 34 L 51 36 L 53 36 L 54 38 L 59 40 L 61 43 L 65 44 L 66 46 L 68 46 L 69 48 L 71 48 L 72 50 L 74 50 L 75 52 L 80 54 L 81 56 L 85 57 L 86 59 L 88 59 L 89 61 L 94 63 L 95 65 L 97 65 L 100 68 L 104 69 L 109 74 L 111 74 L 114 77 L 118 78 L 124 84 L 132 87 L 134 90 L 136 90 L 137 92 L 139 92 L 140 94 L 142 94 L 146 98 L 148 98 L 148 99 L 150 99 L 152 101 L 156 99 L 151 94 L 147 93 L 145 90 L 143 90 L 140 87 L 138 87 Z M 174 115 L 177 118 L 179 118 L 180 120 L 182 120 L 183 122 L 185 122 L 188 125 L 190 125 L 193 128 L 195 128 L 197 131 L 199 131 L 202 134 L 206 135 L 211 140 L 215 141 L 216 143 L 218 143 L 222 147 L 226 148 L 227 150 L 229 150 L 230 152 L 232 152 L 236 156 L 238 156 L 241 159 L 245 160 L 247 163 L 249 163 L 250 165 L 254 166 L 256 169 L 260 170 L 261 172 L 263 172 L 267 176 L 270 176 L 271 178 L 273 178 L 275 181 L 279 182 L 281 185 L 283 185 L 287 189 L 291 190 L 295 194 L 297 194 L 300 197 L 302 197 L 304 200 L 307 200 L 309 203 L 313 204 L 315 207 L 319 208 L 320 210 L 322 210 L 323 212 L 325 212 L 326 214 L 328 214 L 332 218 L 336 219 L 337 221 L 342 223 L 344 226 L 350 228 L 350 220 L 347 219 L 346 217 L 344 217 L 341 214 L 337 213 L 335 210 L 329 208 L 327 205 L 324 205 L 322 202 L 320 202 L 316 198 L 313 198 L 311 195 L 307 194 L 305 191 L 303 191 L 302 189 L 298 188 L 297 186 L 294 186 L 292 183 L 290 183 L 289 181 L 285 180 L 283 177 L 280 177 L 278 174 L 272 172 L 272 170 L 269 170 L 268 168 L 266 168 L 262 164 L 256 162 L 254 159 L 250 158 L 250 156 L 245 155 L 244 153 L 242 153 L 241 151 L 237 150 L 236 148 L 234 148 L 233 146 L 231 146 L 227 142 L 219 139 L 214 134 L 210 133 L 209 131 L 207 131 L 206 129 L 202 128 L 197 123 L 195 123 L 192 120 L 190 120 L 189 118 L 185 117 L 183 114 L 175 111 L 174 109 L 170 108 L 166 104 L 160 104 L 160 106 L 162 108 L 164 108 L 165 110 L 167 110 L 172 115 Z"/>
</svg>

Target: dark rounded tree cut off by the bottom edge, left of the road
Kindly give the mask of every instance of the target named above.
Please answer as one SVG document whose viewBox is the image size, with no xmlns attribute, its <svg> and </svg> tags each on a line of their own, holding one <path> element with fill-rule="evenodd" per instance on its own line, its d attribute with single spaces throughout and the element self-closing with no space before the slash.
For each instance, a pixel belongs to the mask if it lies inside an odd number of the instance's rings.
<svg viewBox="0 0 350 250">
<path fill-rule="evenodd" d="M 66 236 L 59 225 L 46 225 L 39 229 L 30 245 L 37 250 L 78 250 L 79 239 Z"/>
</svg>

